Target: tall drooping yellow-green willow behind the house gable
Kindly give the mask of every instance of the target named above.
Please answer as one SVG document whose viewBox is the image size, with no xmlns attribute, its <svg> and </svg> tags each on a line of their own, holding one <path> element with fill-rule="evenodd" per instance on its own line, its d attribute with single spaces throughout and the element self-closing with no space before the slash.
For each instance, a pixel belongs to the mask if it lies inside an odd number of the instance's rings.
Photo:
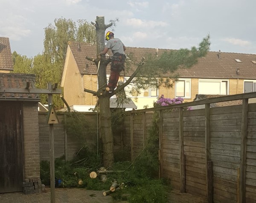
<svg viewBox="0 0 256 203">
<path fill-rule="evenodd" d="M 43 56 L 37 56 L 37 59 L 42 60 L 48 70 L 44 69 L 42 66 L 40 67 L 40 63 L 36 63 L 38 67 L 36 72 L 39 77 L 37 79 L 40 81 L 41 88 L 43 88 L 43 86 L 47 87 L 48 82 L 57 82 L 60 87 L 68 41 L 95 44 L 96 33 L 94 26 L 86 20 L 78 20 L 76 24 L 76 22 L 71 19 L 61 17 L 56 18 L 54 24 L 50 23 L 44 29 Z M 44 70 L 44 73 L 40 72 L 40 68 Z M 53 74 L 52 76 L 49 76 L 49 71 Z M 53 95 L 53 101 L 57 108 L 63 106 L 58 95 Z"/>
</svg>

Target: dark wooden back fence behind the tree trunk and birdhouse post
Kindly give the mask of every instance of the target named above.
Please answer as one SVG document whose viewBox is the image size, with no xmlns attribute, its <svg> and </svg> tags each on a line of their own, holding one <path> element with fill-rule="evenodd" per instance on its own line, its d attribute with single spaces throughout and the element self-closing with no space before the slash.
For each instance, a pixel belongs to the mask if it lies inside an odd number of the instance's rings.
<svg viewBox="0 0 256 203">
<path fill-rule="evenodd" d="M 99 114 L 95 112 L 80 113 L 84 120 L 70 119 L 68 112 L 57 112 L 59 124 L 54 124 L 54 156 L 65 157 L 65 160 L 71 160 L 76 153 L 81 149 L 83 144 L 89 149 L 97 149 L 100 146 L 100 129 L 99 129 Z M 73 115 L 75 117 L 75 115 Z M 46 123 L 47 112 L 39 112 L 39 147 L 40 160 L 49 160 L 49 124 Z M 75 134 L 67 125 L 72 125 L 69 122 L 84 122 L 84 132 Z M 76 123 L 78 124 L 78 123 Z M 83 123 L 81 123 L 82 125 Z M 122 128 L 113 129 L 114 151 L 118 152 L 123 149 Z M 125 138 L 124 138 L 125 139 Z M 130 140 L 130 139 L 129 139 Z M 125 140 L 126 141 L 126 140 Z M 129 141 L 130 142 L 130 141 Z M 130 145 L 130 143 L 128 143 Z"/>
</svg>

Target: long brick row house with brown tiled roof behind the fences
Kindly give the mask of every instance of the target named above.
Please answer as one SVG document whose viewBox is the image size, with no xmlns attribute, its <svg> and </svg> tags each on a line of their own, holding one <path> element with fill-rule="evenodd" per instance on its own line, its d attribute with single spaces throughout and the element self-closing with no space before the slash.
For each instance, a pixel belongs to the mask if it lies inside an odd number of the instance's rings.
<svg viewBox="0 0 256 203">
<path fill-rule="evenodd" d="M 160 55 L 168 49 L 127 47 L 125 53 L 133 54 L 139 61 L 147 53 Z M 108 53 L 110 55 L 110 53 Z M 96 45 L 69 42 L 61 87 L 64 97 L 72 105 L 95 105 L 96 96 L 84 92 L 85 89 L 97 90 L 97 69 L 85 56 L 96 58 Z M 128 59 L 126 59 L 128 61 Z M 178 69 L 179 79 L 172 88 L 160 86 L 148 88 L 140 95 L 129 95 L 137 106 L 153 107 L 153 102 L 161 94 L 164 97 L 183 97 L 185 102 L 193 101 L 196 94 L 239 94 L 256 91 L 256 54 L 227 53 L 209 51 L 206 57 L 190 69 Z M 110 65 L 107 67 L 107 74 Z M 121 72 L 120 80 L 126 80 L 131 72 Z M 163 76 L 163 77 L 167 77 Z"/>
</svg>

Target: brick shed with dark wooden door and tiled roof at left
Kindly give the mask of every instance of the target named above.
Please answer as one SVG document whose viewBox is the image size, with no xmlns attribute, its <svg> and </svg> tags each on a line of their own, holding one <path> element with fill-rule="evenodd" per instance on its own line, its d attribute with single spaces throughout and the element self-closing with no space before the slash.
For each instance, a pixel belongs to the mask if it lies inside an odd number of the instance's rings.
<svg viewBox="0 0 256 203">
<path fill-rule="evenodd" d="M 0 193 L 40 193 L 38 94 L 35 75 L 0 73 Z"/>
</svg>

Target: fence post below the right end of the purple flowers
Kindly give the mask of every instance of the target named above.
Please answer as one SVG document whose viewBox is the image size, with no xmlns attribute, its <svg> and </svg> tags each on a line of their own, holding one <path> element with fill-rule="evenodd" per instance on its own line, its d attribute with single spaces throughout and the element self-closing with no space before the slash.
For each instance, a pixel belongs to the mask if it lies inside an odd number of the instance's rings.
<svg viewBox="0 0 256 203">
<path fill-rule="evenodd" d="M 185 176 L 185 155 L 183 144 L 183 107 L 179 108 L 179 141 L 180 141 L 180 192 L 185 192 L 186 176 Z"/>
</svg>

